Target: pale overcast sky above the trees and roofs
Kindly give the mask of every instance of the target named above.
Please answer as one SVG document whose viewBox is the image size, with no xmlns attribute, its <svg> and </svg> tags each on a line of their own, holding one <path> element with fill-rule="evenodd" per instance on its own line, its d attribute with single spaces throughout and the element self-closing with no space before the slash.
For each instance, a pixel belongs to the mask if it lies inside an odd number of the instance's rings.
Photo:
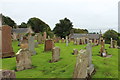
<svg viewBox="0 0 120 80">
<path fill-rule="evenodd" d="M 18 25 L 38 17 L 51 29 L 67 17 L 74 28 L 90 32 L 118 31 L 119 0 L 0 0 L 0 13 Z"/>
</svg>

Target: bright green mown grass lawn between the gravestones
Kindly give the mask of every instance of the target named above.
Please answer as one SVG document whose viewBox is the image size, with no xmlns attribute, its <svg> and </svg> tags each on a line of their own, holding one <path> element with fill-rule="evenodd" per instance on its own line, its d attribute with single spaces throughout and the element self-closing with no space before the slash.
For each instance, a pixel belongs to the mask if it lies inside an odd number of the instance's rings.
<svg viewBox="0 0 120 80">
<path fill-rule="evenodd" d="M 17 43 L 17 41 L 13 42 L 14 52 L 19 50 Z M 66 46 L 65 43 L 55 43 L 55 46 L 61 49 L 59 62 L 49 63 L 52 52 L 44 52 L 44 44 L 40 44 L 35 48 L 37 55 L 32 56 L 32 64 L 35 68 L 16 72 L 17 78 L 72 78 L 76 63 L 76 56 L 72 55 L 73 49 L 84 49 L 86 45 L 69 43 L 69 46 Z M 92 78 L 118 78 L 118 49 L 109 48 L 109 44 L 105 47 L 112 57 L 98 56 L 100 45 L 92 48 L 92 62 L 96 69 Z M 2 59 L 2 68 L 15 70 L 16 58 Z"/>
</svg>

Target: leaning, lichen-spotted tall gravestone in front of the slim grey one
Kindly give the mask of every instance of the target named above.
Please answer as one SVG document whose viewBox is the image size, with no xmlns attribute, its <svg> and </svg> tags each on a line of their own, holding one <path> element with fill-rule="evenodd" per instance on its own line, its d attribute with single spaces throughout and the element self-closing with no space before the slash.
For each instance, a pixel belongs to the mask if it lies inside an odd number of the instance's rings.
<svg viewBox="0 0 120 80">
<path fill-rule="evenodd" d="M 80 50 L 77 56 L 73 78 L 75 78 L 76 80 L 78 78 L 86 78 L 88 76 L 87 66 L 88 66 L 88 55 L 86 53 L 86 50 Z"/>
</svg>

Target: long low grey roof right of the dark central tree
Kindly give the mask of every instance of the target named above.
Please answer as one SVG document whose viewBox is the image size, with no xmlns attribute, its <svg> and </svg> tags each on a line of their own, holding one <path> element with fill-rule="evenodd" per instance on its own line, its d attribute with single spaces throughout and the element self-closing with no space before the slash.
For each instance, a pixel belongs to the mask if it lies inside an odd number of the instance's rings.
<svg viewBox="0 0 120 80">
<path fill-rule="evenodd" d="M 82 38 L 82 37 L 86 37 L 89 39 L 99 39 L 100 38 L 100 34 L 71 34 L 70 38 Z"/>
</svg>

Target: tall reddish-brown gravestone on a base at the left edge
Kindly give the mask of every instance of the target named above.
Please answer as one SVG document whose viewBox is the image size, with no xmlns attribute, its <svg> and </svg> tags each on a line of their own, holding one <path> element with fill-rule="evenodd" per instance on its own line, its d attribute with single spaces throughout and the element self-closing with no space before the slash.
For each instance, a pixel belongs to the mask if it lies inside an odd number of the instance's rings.
<svg viewBox="0 0 120 80">
<path fill-rule="evenodd" d="M 11 38 L 11 27 L 1 26 L 0 27 L 0 57 L 12 57 L 14 56 L 12 48 L 12 38 Z"/>
</svg>

